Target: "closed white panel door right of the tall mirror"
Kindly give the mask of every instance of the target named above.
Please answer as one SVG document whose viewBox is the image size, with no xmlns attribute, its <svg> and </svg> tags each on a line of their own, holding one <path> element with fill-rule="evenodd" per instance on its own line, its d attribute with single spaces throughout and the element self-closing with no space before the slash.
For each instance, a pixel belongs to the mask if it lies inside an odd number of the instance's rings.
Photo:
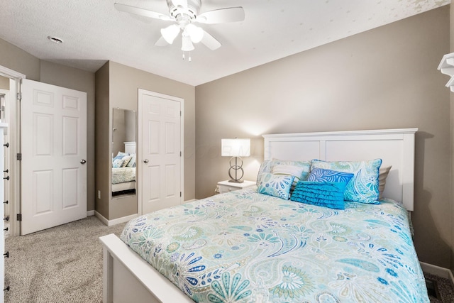
<svg viewBox="0 0 454 303">
<path fill-rule="evenodd" d="M 142 89 L 139 98 L 142 145 L 139 182 L 142 214 L 146 214 L 183 201 L 182 101 Z"/>
</svg>

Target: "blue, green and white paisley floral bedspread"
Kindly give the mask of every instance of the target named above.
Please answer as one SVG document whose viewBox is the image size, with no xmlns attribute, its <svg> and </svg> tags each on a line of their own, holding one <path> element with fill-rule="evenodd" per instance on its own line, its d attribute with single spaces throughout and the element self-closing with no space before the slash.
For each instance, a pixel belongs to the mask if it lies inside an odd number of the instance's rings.
<svg viewBox="0 0 454 303">
<path fill-rule="evenodd" d="M 195 302 L 429 302 L 406 210 L 244 189 L 131 220 L 121 239 Z"/>
</svg>

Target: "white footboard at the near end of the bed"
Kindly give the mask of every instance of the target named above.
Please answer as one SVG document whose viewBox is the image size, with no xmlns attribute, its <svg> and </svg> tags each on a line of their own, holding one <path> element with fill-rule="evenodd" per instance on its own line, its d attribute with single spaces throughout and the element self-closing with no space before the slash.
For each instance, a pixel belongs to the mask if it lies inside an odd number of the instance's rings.
<svg viewBox="0 0 454 303">
<path fill-rule="evenodd" d="M 103 243 L 103 302 L 193 302 L 114 234 Z"/>
</svg>

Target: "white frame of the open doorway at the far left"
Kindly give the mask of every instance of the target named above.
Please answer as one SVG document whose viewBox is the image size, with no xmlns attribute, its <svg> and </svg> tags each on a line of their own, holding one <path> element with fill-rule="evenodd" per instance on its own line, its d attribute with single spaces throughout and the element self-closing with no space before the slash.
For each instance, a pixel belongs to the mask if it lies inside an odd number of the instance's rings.
<svg viewBox="0 0 454 303">
<path fill-rule="evenodd" d="M 17 221 L 16 214 L 21 213 L 21 161 L 16 160 L 16 153 L 21 153 L 21 104 L 17 99 L 18 92 L 21 92 L 22 79 L 26 79 L 26 75 L 10 70 L 7 67 L 0 65 L 0 75 L 10 79 L 9 91 L 9 150 L 6 155 L 5 166 L 9 168 L 9 200 L 6 206 L 5 216 L 9 216 L 9 235 L 19 236 L 21 231 L 20 222 Z M 12 102 L 14 101 L 14 102 Z"/>
</svg>

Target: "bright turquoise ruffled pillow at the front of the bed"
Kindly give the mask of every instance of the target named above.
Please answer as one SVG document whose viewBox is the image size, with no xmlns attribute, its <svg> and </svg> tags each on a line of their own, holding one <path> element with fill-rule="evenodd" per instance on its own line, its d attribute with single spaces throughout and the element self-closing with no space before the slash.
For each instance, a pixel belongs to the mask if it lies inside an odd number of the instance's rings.
<svg viewBox="0 0 454 303">
<path fill-rule="evenodd" d="M 345 209 L 343 195 L 345 182 L 299 181 L 290 199 L 330 209 Z"/>
</svg>

